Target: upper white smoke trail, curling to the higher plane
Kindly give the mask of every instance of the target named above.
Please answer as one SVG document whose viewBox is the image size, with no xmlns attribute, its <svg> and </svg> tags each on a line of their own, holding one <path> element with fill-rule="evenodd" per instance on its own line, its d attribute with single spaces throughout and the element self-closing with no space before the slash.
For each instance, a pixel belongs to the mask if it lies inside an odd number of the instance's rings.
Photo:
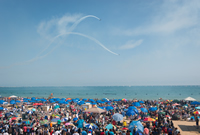
<svg viewBox="0 0 200 135">
<path fill-rule="evenodd" d="M 96 17 L 96 16 L 94 16 L 94 15 L 87 15 L 87 16 L 84 16 L 84 17 L 80 18 L 78 21 L 76 21 L 76 22 L 69 28 L 69 31 L 68 31 L 68 32 L 72 32 L 80 22 L 82 22 L 83 20 L 85 20 L 86 18 L 89 18 L 89 17 L 96 18 L 96 19 L 98 19 L 99 21 L 101 20 L 100 18 L 98 18 L 98 17 Z M 58 35 L 57 35 L 57 36 L 58 36 Z M 53 40 L 51 41 L 51 43 L 49 43 L 49 44 L 44 48 L 44 50 L 42 50 L 36 57 L 40 56 L 44 51 L 46 51 L 46 50 L 49 48 L 49 46 L 57 39 L 57 36 L 55 36 L 55 37 L 53 38 Z"/>
</svg>

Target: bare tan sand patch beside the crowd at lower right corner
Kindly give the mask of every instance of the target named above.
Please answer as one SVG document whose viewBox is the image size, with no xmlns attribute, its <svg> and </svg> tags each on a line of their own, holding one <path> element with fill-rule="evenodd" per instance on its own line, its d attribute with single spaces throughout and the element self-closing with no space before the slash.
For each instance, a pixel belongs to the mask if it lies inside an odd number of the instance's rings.
<svg viewBox="0 0 200 135">
<path fill-rule="evenodd" d="M 174 127 L 180 130 L 181 135 L 200 135 L 200 127 L 196 128 L 196 122 L 173 120 L 173 123 Z"/>
</svg>

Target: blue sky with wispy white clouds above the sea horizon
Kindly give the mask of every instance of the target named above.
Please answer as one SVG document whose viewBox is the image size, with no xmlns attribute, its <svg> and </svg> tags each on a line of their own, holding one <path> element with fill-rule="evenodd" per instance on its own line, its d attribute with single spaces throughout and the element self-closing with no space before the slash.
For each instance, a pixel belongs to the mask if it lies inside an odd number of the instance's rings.
<svg viewBox="0 0 200 135">
<path fill-rule="evenodd" d="M 199 13 L 199 0 L 1 0 L 0 86 L 200 85 Z M 101 20 L 72 29 L 87 15 Z"/>
</svg>

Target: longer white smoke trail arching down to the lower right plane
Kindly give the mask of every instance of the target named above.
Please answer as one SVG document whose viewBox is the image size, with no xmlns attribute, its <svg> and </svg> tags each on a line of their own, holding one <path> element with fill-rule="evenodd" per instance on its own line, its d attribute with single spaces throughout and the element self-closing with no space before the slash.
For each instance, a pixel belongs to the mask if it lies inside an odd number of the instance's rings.
<svg viewBox="0 0 200 135">
<path fill-rule="evenodd" d="M 82 34 L 82 33 L 77 33 L 77 32 L 66 32 L 64 34 L 60 34 L 60 35 L 57 35 L 54 40 L 56 40 L 57 38 L 61 37 L 61 36 L 64 36 L 64 35 L 79 35 L 79 36 L 82 36 L 82 37 L 85 37 L 85 38 L 88 38 L 92 41 L 94 41 L 95 43 L 99 44 L 101 47 L 103 47 L 106 51 L 112 53 L 112 54 L 115 54 L 115 55 L 119 55 L 111 50 L 109 50 L 107 47 L 105 47 L 100 41 L 98 41 L 97 39 L 93 38 L 93 37 L 90 37 L 88 35 L 85 35 L 85 34 Z M 47 55 L 49 55 L 50 53 L 52 53 L 56 48 L 58 47 L 58 45 L 56 45 L 50 52 L 48 52 L 47 54 L 43 55 L 43 56 L 37 56 L 33 59 L 30 59 L 28 61 L 24 61 L 24 62 L 19 62 L 19 63 L 14 63 L 12 65 L 9 65 L 9 66 L 5 66 L 5 67 L 0 67 L 0 69 L 5 69 L 5 68 L 11 68 L 13 66 L 17 66 L 17 65 L 25 65 L 25 64 L 28 64 L 28 63 L 31 63 L 31 62 L 34 62 L 38 59 L 42 59 L 44 57 L 46 57 Z"/>
</svg>

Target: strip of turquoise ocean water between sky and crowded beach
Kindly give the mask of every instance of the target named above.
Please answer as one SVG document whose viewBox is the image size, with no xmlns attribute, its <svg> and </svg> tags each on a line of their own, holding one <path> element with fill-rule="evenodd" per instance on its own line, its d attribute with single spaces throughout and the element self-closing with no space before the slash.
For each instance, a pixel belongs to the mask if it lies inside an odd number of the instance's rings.
<svg viewBox="0 0 200 135">
<path fill-rule="evenodd" d="M 200 86 L 80 86 L 80 87 L 0 87 L 1 96 L 110 99 L 184 99 L 200 101 Z"/>
</svg>

